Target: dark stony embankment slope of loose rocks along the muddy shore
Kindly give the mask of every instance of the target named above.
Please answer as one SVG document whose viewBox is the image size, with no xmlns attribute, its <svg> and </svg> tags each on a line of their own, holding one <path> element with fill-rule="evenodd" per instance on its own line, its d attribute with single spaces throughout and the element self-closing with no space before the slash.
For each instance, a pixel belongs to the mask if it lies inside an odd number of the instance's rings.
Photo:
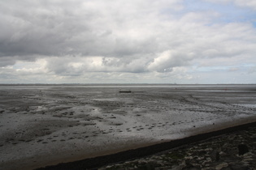
<svg viewBox="0 0 256 170">
<path fill-rule="evenodd" d="M 105 169 L 256 169 L 256 127 L 176 147 Z"/>
</svg>

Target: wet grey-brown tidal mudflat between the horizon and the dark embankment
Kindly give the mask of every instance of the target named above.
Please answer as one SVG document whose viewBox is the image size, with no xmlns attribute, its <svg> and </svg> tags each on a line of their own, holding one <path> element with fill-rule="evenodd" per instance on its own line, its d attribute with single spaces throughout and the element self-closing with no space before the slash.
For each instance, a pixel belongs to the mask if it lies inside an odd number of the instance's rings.
<svg viewBox="0 0 256 170">
<path fill-rule="evenodd" d="M 0 98 L 2 169 L 41 168 L 256 121 L 254 85 L 2 85 Z"/>
</svg>

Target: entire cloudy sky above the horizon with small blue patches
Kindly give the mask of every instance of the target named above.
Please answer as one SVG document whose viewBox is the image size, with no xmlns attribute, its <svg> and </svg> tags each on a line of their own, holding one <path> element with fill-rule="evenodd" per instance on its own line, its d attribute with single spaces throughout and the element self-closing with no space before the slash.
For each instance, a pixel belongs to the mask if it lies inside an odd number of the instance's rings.
<svg viewBox="0 0 256 170">
<path fill-rule="evenodd" d="M 0 83 L 256 83 L 255 0 L 1 0 Z"/>
</svg>

